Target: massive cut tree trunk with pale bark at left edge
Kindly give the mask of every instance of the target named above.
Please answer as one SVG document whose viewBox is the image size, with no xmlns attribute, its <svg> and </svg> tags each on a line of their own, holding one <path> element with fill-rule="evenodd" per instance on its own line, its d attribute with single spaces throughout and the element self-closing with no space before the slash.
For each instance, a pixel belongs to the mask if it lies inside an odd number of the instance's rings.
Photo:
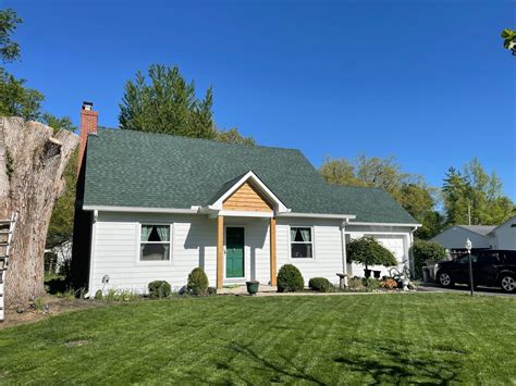
<svg viewBox="0 0 516 386">
<path fill-rule="evenodd" d="M 44 253 L 56 200 L 64 191 L 63 171 L 78 137 L 20 117 L 0 117 L 0 219 L 17 211 L 4 273 L 8 307 L 26 306 L 45 294 Z"/>
</svg>

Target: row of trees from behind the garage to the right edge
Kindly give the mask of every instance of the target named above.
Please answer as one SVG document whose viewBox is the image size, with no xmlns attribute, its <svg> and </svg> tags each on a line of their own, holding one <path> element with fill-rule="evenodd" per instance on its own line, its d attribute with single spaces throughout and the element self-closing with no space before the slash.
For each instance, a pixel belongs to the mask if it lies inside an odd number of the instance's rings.
<svg viewBox="0 0 516 386">
<path fill-rule="evenodd" d="M 468 224 L 468 204 L 474 225 L 495 225 L 516 213 L 502 192 L 501 178 L 488 174 L 474 158 L 463 171 L 450 167 L 442 188 L 427 185 L 419 175 L 403 172 L 394 158 L 328 159 L 320 172 L 329 184 L 379 187 L 389 192 L 422 227 L 416 237 L 429 239 L 444 225 Z M 442 203 L 442 210 L 441 210 Z"/>
</svg>

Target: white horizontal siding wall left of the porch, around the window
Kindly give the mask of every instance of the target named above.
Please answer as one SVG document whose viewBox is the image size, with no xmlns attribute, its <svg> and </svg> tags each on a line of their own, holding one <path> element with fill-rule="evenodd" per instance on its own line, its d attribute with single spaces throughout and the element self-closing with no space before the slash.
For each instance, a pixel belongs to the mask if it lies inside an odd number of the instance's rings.
<svg viewBox="0 0 516 386">
<path fill-rule="evenodd" d="M 171 261 L 139 261 L 139 223 L 172 224 Z M 145 292 L 149 282 L 164 279 L 175 288 L 186 284 L 188 273 L 202 266 L 210 285 L 216 281 L 216 223 L 195 215 L 138 215 L 100 213 L 96 223 L 91 292 L 131 289 Z"/>
</svg>

